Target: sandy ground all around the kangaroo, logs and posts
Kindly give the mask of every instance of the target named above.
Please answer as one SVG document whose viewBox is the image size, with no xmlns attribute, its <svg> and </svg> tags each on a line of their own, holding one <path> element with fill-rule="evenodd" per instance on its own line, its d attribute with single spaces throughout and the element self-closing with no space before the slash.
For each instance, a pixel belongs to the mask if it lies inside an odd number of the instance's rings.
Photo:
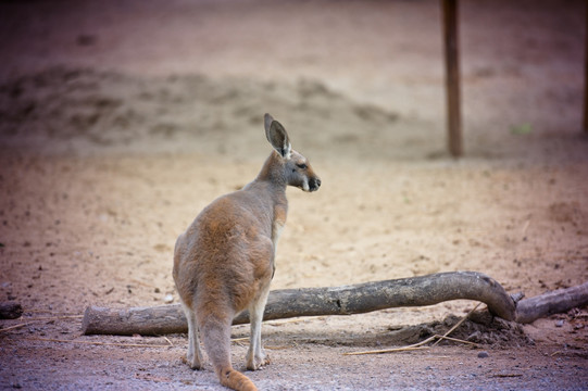
<svg viewBox="0 0 588 391">
<path fill-rule="evenodd" d="M 265 112 L 323 180 L 288 192 L 274 289 L 448 270 L 527 297 L 585 282 L 584 7 L 463 3 L 466 156 L 452 160 L 436 1 L 0 3 L 0 301 L 25 308 L 0 324 L 0 388 L 221 389 L 210 364 L 182 363 L 186 336 L 83 337 L 80 315 L 177 302 L 175 239 L 257 175 Z M 264 390 L 586 389 L 586 308 L 489 338 L 488 357 L 342 355 L 473 306 L 267 323 L 272 364 L 248 376 Z"/>
</svg>

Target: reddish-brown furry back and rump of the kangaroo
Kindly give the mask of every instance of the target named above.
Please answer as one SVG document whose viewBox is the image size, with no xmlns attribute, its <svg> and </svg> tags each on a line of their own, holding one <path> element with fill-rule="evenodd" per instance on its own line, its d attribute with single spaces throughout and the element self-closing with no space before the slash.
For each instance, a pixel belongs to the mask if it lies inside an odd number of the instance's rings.
<svg viewBox="0 0 588 391">
<path fill-rule="evenodd" d="M 207 206 L 176 242 L 174 279 L 184 303 L 200 294 L 227 302 L 235 314 L 246 310 L 259 281 L 273 274 L 272 223 L 272 209 L 245 190 Z M 190 278 L 179 278 L 188 269 Z"/>
</svg>

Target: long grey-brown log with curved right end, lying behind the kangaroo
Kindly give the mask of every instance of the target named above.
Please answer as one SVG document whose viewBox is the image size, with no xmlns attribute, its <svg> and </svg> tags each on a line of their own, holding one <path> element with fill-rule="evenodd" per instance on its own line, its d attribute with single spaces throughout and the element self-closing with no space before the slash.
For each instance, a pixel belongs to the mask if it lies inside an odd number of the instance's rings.
<svg viewBox="0 0 588 391">
<path fill-rule="evenodd" d="M 506 320 L 515 319 L 513 298 L 496 280 L 475 272 L 439 273 L 333 288 L 275 290 L 270 292 L 263 319 L 362 314 L 458 299 L 480 301 L 488 305 L 490 313 Z M 247 312 L 234 319 L 234 325 L 246 323 L 249 323 Z M 123 310 L 89 306 L 83 320 L 85 335 L 153 336 L 187 330 L 179 304 Z"/>
</svg>

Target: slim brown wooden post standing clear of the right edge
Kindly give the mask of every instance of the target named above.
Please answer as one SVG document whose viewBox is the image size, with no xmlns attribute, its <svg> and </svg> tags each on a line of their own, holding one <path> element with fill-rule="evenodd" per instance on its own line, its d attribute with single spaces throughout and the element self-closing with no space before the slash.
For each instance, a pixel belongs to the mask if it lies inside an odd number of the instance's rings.
<svg viewBox="0 0 588 391">
<path fill-rule="evenodd" d="M 449 152 L 459 157 L 463 154 L 462 121 L 460 106 L 460 63 L 458 41 L 458 0 L 443 3 L 443 41 L 446 60 L 447 125 Z"/>
</svg>

